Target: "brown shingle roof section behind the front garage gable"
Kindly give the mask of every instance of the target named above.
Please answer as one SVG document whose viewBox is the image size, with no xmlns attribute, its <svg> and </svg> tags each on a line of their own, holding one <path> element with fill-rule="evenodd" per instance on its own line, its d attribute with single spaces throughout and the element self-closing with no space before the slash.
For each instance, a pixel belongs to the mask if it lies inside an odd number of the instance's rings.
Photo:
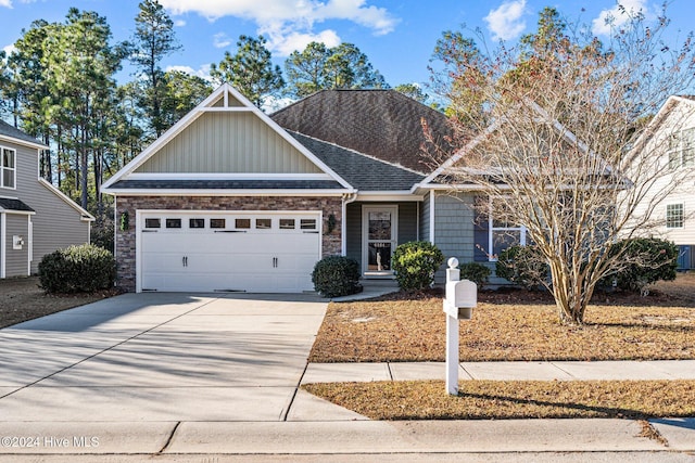
<svg viewBox="0 0 695 463">
<path fill-rule="evenodd" d="M 270 115 L 285 129 L 428 173 L 421 119 L 440 137 L 446 116 L 395 90 L 323 90 Z"/>
</svg>

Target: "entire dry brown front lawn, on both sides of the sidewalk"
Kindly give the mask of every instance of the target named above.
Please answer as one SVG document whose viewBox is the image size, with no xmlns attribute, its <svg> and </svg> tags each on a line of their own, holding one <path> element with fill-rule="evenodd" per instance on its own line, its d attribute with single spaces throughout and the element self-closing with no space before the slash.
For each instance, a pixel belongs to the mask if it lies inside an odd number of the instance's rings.
<svg viewBox="0 0 695 463">
<path fill-rule="evenodd" d="M 695 359 L 695 274 L 650 296 L 596 297 L 581 327 L 558 322 L 547 295 L 482 293 L 460 321 L 462 361 Z M 443 361 L 441 297 L 331 304 L 313 362 Z M 372 420 L 695 416 L 695 381 L 442 381 L 328 383 L 309 393 Z M 658 438 L 647 422 L 647 436 Z"/>
</svg>

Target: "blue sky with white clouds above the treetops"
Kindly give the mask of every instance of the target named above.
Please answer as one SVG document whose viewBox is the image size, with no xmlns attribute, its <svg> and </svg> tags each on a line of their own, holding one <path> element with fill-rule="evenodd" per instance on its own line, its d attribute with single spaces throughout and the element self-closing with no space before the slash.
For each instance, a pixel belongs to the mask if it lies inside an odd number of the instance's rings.
<svg viewBox="0 0 695 463">
<path fill-rule="evenodd" d="M 329 46 L 355 43 L 391 86 L 427 82 L 428 60 L 441 33 L 479 27 L 488 44 L 514 42 L 535 29 L 538 13 L 556 7 L 566 17 L 604 34 L 603 18 L 617 13 L 614 0 L 160 0 L 174 22 L 184 50 L 168 56 L 165 68 L 204 76 L 225 51 L 235 51 L 241 34 L 263 34 L 277 64 L 311 40 Z M 661 0 L 621 0 L 647 17 Z M 136 0 L 0 0 L 0 49 L 10 50 L 35 20 L 62 22 L 67 10 L 96 11 L 108 18 L 114 40 L 128 39 L 138 13 Z M 675 44 L 692 30 L 693 0 L 669 1 L 669 39 Z M 128 69 L 121 79 L 128 79 Z"/>
</svg>

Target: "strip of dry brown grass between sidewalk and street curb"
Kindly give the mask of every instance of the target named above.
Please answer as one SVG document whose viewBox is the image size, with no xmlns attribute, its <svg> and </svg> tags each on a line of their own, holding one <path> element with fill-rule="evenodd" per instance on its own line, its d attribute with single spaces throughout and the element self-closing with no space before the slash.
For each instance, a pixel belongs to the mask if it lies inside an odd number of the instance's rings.
<svg viewBox="0 0 695 463">
<path fill-rule="evenodd" d="M 695 416 L 694 381 L 311 384 L 309 393 L 372 420 L 510 420 Z"/>
</svg>

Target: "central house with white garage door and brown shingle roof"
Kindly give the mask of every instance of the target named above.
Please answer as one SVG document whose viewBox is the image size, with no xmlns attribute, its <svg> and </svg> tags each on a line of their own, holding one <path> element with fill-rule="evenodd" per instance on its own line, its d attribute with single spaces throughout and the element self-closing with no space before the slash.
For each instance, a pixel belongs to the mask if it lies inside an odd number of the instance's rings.
<svg viewBox="0 0 695 463">
<path fill-rule="evenodd" d="M 313 291 L 321 257 L 393 278 L 393 250 L 416 240 L 489 261 L 498 230 L 476 224 L 473 192 L 437 182 L 424 120 L 448 133 L 443 114 L 393 90 L 320 91 L 267 116 L 223 85 L 103 185 L 129 223 L 118 284 Z"/>
</svg>

